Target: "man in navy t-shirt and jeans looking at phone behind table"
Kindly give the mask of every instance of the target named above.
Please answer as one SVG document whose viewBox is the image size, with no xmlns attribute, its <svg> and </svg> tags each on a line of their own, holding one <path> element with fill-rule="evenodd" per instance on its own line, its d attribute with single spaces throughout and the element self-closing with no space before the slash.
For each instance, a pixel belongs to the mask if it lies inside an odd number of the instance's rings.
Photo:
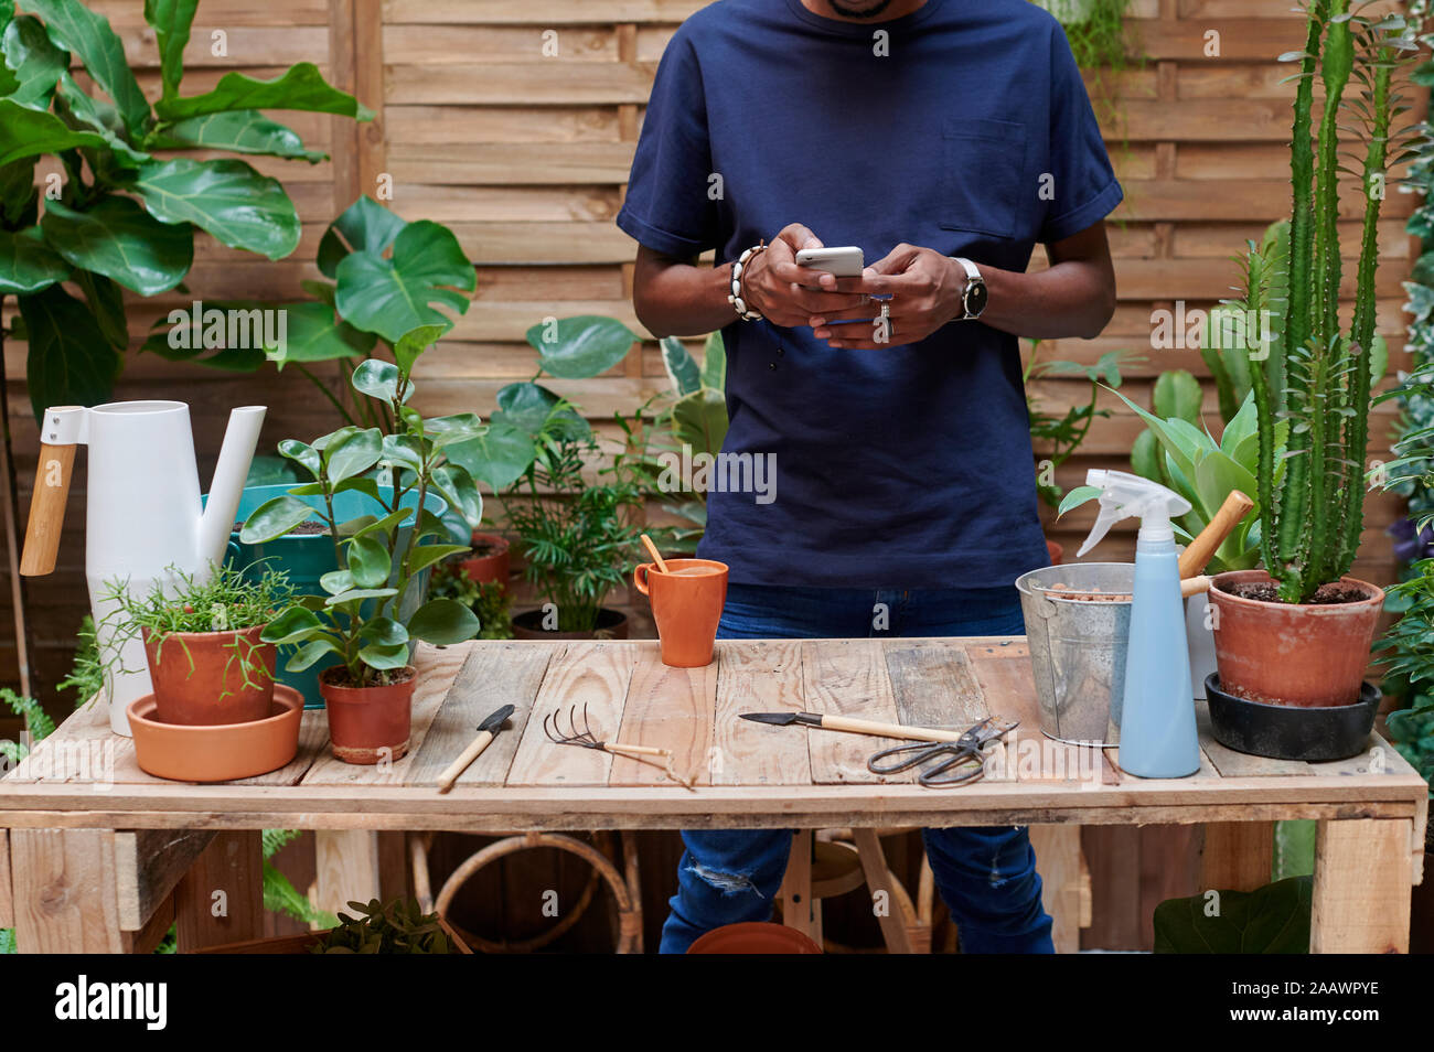
<svg viewBox="0 0 1434 1052">
<path fill-rule="evenodd" d="M 1017 337 L 1110 321 L 1120 199 L 1028 0 L 723 0 L 678 29 L 617 222 L 642 324 L 723 330 L 723 638 L 1024 632 L 1012 582 L 1047 556 Z M 859 277 L 796 262 L 839 245 Z M 1024 828 L 925 838 L 965 950 L 1050 950 Z M 664 952 L 770 916 L 789 836 L 684 840 Z"/>
</svg>

